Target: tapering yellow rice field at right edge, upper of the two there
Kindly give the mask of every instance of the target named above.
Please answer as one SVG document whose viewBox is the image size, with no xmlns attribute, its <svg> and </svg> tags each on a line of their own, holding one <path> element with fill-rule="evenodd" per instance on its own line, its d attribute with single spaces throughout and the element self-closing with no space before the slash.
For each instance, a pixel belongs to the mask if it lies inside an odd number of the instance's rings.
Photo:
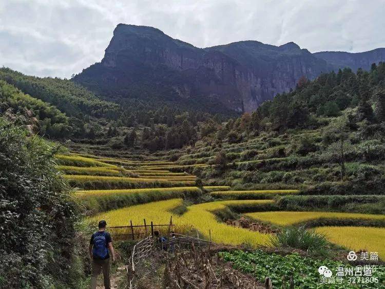
<svg viewBox="0 0 385 289">
<path fill-rule="evenodd" d="M 339 212 L 291 212 L 291 211 L 273 211 L 273 212 L 255 212 L 247 213 L 252 219 L 273 223 L 280 226 L 288 226 L 302 223 L 314 219 L 372 219 L 385 220 L 385 215 L 361 214 L 361 213 L 339 213 Z"/>
</svg>

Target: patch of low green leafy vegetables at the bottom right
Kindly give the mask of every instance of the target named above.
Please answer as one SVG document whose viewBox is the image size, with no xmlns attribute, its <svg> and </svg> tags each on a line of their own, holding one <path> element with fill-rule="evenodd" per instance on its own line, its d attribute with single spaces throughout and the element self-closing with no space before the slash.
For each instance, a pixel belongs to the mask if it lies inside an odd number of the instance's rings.
<svg viewBox="0 0 385 289">
<path fill-rule="evenodd" d="M 355 284 L 349 284 L 346 277 L 342 284 L 320 284 L 318 268 L 327 266 L 333 272 L 333 276 L 336 276 L 337 267 L 349 267 L 339 261 L 316 260 L 298 254 L 281 256 L 262 250 L 220 252 L 220 255 L 226 261 L 233 262 L 234 268 L 250 273 L 262 282 L 265 277 L 271 278 L 273 286 L 277 288 L 282 285 L 282 277 L 290 276 L 293 276 L 295 288 L 357 288 Z M 379 282 L 372 283 L 371 288 L 380 288 L 385 278 L 385 269 L 378 266 L 377 272 L 373 272 L 373 277 L 378 277 Z M 362 284 L 362 288 L 368 288 L 368 285 Z"/>
</svg>

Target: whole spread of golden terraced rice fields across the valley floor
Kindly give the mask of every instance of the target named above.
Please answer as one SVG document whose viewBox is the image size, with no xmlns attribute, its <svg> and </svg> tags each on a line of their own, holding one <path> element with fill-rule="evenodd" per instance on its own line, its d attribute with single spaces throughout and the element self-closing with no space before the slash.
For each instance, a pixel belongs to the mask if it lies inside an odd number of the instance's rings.
<svg viewBox="0 0 385 289">
<path fill-rule="evenodd" d="M 245 143 L 253 148 L 253 143 Z M 242 159 L 244 151 L 239 146 L 228 146 Z M 264 153 L 268 151 L 259 151 Z M 202 151 L 181 157 L 179 164 L 167 160 L 137 160 L 124 158 L 99 157 L 89 154 L 57 155 L 59 168 L 65 173 L 72 186 L 81 188 L 75 193 L 90 212 L 89 221 L 96 222 L 106 219 L 109 226 L 142 224 L 143 219 L 155 224 L 167 224 L 172 215 L 176 230 L 191 232 L 198 230 L 201 236 L 224 244 L 267 245 L 268 235 L 235 226 L 226 225 L 218 220 L 217 211 L 230 208 L 235 211 L 256 211 L 261 206 L 274 204 L 277 195 L 296 194 L 298 190 L 248 190 L 235 191 L 229 186 L 204 186 L 203 191 L 195 186 L 195 175 L 188 172 L 191 168 L 207 167 L 206 161 L 212 156 Z M 271 158 L 275 160 L 279 158 Z M 261 160 L 238 161 L 238 165 Z M 186 165 L 182 165 L 186 164 Z M 208 193 L 222 201 L 184 206 L 183 197 L 195 197 Z M 270 200 L 269 200 L 270 199 Z M 173 210 L 184 208 L 183 213 Z M 118 208 L 112 209 L 111 208 Z M 289 226 L 319 218 L 333 219 L 373 219 L 385 220 L 384 215 L 337 213 L 337 212 L 293 212 L 267 211 L 245 213 L 252 219 Z M 372 227 L 318 227 L 326 232 L 332 242 L 347 248 L 376 250 L 385 258 L 384 228 Z M 195 233 L 194 233 L 195 234 Z M 368 245 L 370 244 L 370 246 Z"/>
</svg>

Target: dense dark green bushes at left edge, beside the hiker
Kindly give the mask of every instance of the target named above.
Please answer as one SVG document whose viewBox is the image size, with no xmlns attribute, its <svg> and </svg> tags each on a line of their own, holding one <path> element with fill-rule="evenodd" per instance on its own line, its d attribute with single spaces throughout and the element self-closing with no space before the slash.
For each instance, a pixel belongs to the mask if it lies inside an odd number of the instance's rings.
<svg viewBox="0 0 385 289">
<path fill-rule="evenodd" d="M 0 287 L 74 287 L 76 207 L 55 169 L 56 148 L 14 119 L 0 117 Z"/>
</svg>

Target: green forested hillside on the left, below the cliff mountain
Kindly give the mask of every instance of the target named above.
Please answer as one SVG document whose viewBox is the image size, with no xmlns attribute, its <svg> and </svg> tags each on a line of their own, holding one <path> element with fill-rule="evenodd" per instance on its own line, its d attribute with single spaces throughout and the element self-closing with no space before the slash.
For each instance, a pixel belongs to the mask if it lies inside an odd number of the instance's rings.
<svg viewBox="0 0 385 289">
<path fill-rule="evenodd" d="M 38 120 L 36 131 L 48 138 L 69 138 L 115 149 L 181 148 L 197 139 L 198 122 L 213 117 L 167 101 L 109 102 L 70 80 L 26 76 L 9 68 L 0 68 L 0 81 L 0 100 L 5 107 L 15 112 L 30 109 Z M 226 115 L 216 119 L 220 122 Z"/>
</svg>

